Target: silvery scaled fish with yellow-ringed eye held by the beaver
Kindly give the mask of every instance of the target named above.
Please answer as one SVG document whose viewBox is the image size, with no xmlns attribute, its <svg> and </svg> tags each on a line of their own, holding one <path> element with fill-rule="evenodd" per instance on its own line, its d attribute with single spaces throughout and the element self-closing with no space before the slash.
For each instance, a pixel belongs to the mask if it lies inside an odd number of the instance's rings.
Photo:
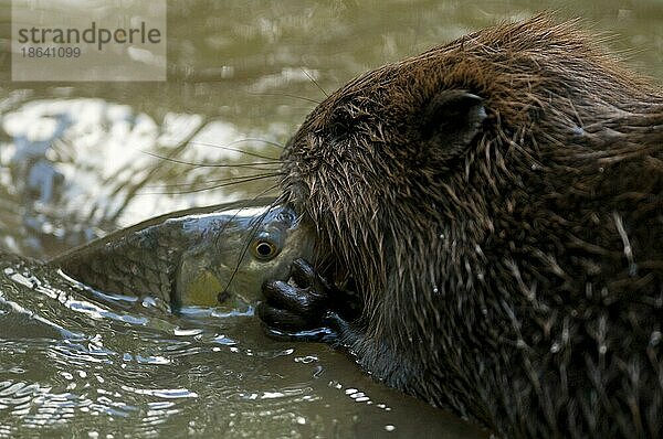
<svg viewBox="0 0 663 439">
<path fill-rule="evenodd" d="M 46 264 L 96 291 L 182 307 L 251 306 L 265 280 L 314 255 L 313 233 L 275 199 L 178 211 L 114 232 Z"/>
</svg>

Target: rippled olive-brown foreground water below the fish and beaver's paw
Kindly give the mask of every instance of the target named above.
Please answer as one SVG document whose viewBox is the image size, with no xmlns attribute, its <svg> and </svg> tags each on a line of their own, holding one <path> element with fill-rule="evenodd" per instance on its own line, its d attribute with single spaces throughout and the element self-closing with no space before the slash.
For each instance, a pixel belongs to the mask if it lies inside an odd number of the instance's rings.
<svg viewBox="0 0 663 439">
<path fill-rule="evenodd" d="M 390 410 L 399 405 L 406 418 L 428 413 L 427 429 L 472 431 L 383 388 L 326 345 L 265 339 L 253 318 L 125 319 L 44 266 L 3 259 L 12 264 L 1 271 L 1 303 L 21 306 L 0 315 L 0 436 L 35 426 L 57 435 L 61 425 L 104 436 L 120 425 L 136 436 L 346 437 L 398 424 Z M 7 330 L 12 319 L 17 331 Z"/>
</svg>

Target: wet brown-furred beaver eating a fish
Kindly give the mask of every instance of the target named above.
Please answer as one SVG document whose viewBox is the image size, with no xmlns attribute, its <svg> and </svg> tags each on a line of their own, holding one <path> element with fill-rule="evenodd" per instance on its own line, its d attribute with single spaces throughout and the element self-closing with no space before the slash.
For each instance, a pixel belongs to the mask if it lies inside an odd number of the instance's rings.
<svg viewBox="0 0 663 439">
<path fill-rule="evenodd" d="M 596 41 L 504 23 L 317 106 L 282 156 L 317 257 L 264 285 L 272 333 L 333 325 L 501 436 L 661 437 L 663 94 Z"/>
</svg>

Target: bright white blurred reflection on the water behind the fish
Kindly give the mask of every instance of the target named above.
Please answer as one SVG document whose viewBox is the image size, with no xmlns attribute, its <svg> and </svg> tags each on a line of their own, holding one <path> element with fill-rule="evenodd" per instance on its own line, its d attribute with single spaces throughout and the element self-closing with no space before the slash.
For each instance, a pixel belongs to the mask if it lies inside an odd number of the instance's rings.
<svg viewBox="0 0 663 439">
<path fill-rule="evenodd" d="M 0 149 L 4 185 L 23 206 L 22 233 L 4 244 L 42 258 L 158 214 L 215 204 L 223 186 L 277 169 L 233 168 L 251 162 L 241 151 L 260 142 L 230 147 L 248 137 L 228 122 L 168 113 L 159 125 L 99 98 L 21 103 L 0 128 L 11 138 Z"/>
</svg>

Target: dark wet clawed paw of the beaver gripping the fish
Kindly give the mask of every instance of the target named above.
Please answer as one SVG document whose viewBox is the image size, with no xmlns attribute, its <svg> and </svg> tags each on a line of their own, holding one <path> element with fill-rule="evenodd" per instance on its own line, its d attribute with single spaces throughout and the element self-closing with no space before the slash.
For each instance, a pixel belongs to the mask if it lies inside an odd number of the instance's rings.
<svg viewBox="0 0 663 439">
<path fill-rule="evenodd" d="M 287 281 L 269 281 L 262 289 L 265 301 L 257 306 L 257 315 L 272 335 L 314 339 L 329 335 L 323 326 L 330 288 L 311 264 L 294 260 Z"/>
</svg>

